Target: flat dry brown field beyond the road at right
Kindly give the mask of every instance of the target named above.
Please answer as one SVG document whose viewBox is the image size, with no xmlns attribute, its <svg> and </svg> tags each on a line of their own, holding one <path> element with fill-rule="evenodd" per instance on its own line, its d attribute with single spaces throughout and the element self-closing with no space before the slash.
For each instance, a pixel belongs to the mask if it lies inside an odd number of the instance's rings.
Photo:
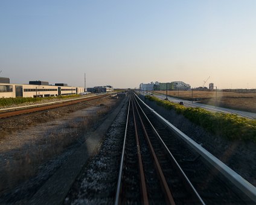
<svg viewBox="0 0 256 205">
<path fill-rule="evenodd" d="M 155 91 L 166 94 L 166 91 Z M 167 95 L 192 101 L 192 91 L 168 90 Z M 215 91 L 193 90 L 193 101 L 215 106 Z M 217 91 L 217 106 L 256 113 L 256 92 Z"/>
</svg>

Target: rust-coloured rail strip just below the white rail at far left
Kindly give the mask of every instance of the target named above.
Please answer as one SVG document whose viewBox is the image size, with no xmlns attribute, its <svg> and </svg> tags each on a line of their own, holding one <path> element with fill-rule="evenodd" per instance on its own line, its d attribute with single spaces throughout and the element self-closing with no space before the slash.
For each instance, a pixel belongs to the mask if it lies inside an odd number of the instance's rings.
<svg viewBox="0 0 256 205">
<path fill-rule="evenodd" d="M 73 100 L 73 101 L 68 101 L 65 103 L 57 103 L 57 104 L 51 104 L 51 105 L 46 105 L 46 106 L 37 106 L 37 107 L 30 107 L 27 109 L 21 109 L 21 110 L 15 110 L 15 111 L 11 111 L 11 112 L 3 112 L 0 113 L 0 119 L 1 118 L 8 118 L 11 116 L 16 116 L 16 115 L 22 115 L 22 114 L 28 114 L 28 113 L 33 113 L 33 112 L 38 112 L 38 111 L 43 111 L 43 110 L 49 110 L 49 109 L 54 109 L 57 107 L 63 107 L 63 106 L 69 106 L 72 104 L 77 104 L 77 103 L 82 103 L 84 101 L 91 101 L 93 99 L 98 99 L 98 98 L 102 98 L 104 96 L 107 96 L 108 94 L 105 95 L 96 95 L 96 96 L 91 96 L 90 98 L 83 98 L 83 99 L 77 99 L 77 100 Z"/>
</svg>

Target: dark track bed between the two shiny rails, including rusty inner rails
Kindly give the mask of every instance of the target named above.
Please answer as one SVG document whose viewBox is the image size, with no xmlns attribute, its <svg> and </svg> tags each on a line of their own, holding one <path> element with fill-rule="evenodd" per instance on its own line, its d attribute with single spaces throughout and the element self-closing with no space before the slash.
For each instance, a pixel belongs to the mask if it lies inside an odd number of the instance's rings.
<svg viewBox="0 0 256 205">
<path fill-rule="evenodd" d="M 129 107 L 115 204 L 204 204 L 134 96 Z"/>
</svg>

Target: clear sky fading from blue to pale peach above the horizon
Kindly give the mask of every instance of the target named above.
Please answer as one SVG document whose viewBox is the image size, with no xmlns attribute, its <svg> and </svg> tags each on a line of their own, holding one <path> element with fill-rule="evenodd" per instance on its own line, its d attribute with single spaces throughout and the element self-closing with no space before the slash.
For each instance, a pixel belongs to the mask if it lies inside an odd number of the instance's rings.
<svg viewBox="0 0 256 205">
<path fill-rule="evenodd" d="M 256 1 L 0 1 L 11 83 L 256 87 Z"/>
</svg>

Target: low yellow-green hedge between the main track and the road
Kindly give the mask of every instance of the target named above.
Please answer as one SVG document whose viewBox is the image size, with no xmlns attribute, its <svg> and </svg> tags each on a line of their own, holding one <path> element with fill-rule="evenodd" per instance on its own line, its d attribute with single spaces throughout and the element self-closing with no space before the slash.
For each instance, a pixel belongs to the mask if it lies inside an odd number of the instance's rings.
<svg viewBox="0 0 256 205">
<path fill-rule="evenodd" d="M 213 113 L 199 107 L 184 107 L 179 104 L 164 101 L 153 96 L 146 99 L 155 101 L 165 109 L 175 110 L 191 122 L 202 126 L 213 134 L 230 140 L 252 140 L 256 142 L 256 120 L 246 119 L 234 114 Z"/>
</svg>

